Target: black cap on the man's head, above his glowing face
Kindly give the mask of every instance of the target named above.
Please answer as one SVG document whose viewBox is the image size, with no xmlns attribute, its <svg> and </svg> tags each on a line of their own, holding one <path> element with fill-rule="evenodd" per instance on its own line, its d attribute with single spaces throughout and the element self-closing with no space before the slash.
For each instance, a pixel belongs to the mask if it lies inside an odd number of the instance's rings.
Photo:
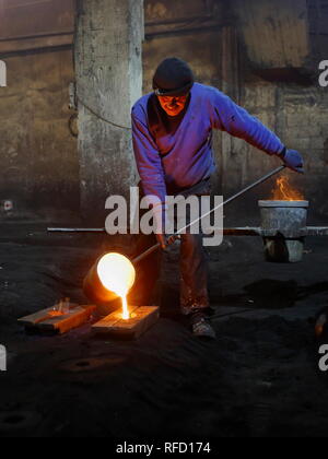
<svg viewBox="0 0 328 459">
<path fill-rule="evenodd" d="M 156 95 L 179 96 L 187 94 L 194 86 L 192 70 L 181 59 L 168 58 L 160 63 L 153 79 Z"/>
</svg>

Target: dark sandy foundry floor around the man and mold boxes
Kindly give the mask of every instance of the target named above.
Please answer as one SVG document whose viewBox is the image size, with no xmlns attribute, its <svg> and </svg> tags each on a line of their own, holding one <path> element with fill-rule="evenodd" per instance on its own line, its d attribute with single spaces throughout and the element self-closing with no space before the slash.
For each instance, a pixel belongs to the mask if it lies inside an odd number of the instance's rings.
<svg viewBox="0 0 328 459">
<path fill-rule="evenodd" d="M 102 244 L 43 229 L 0 228 L 0 343 L 9 352 L 0 436 L 327 435 L 328 378 L 314 339 L 328 303 L 326 238 L 309 238 L 298 264 L 266 263 L 251 237 L 211 249 L 216 342 L 196 341 L 175 314 L 175 249 L 160 321 L 137 342 L 117 342 L 92 338 L 90 323 L 52 338 L 16 325 L 60 296 L 85 302 L 81 280 Z"/>
</svg>

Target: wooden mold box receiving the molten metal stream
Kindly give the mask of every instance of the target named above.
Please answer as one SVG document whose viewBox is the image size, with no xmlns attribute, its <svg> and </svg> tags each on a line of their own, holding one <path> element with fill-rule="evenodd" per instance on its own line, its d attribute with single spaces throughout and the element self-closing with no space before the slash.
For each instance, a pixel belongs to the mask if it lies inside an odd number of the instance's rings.
<svg viewBox="0 0 328 459">
<path fill-rule="evenodd" d="M 107 333 L 122 339 L 137 339 L 149 330 L 160 318 L 160 308 L 156 306 L 129 307 L 130 319 L 124 320 L 121 310 L 115 310 L 101 321 L 94 323 L 92 329 L 96 333 Z"/>
</svg>

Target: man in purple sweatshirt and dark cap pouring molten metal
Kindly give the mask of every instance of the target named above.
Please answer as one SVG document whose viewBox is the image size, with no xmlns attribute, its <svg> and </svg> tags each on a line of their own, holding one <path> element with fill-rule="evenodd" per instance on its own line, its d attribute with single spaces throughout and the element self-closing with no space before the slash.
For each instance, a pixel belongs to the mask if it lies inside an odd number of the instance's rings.
<svg viewBox="0 0 328 459">
<path fill-rule="evenodd" d="M 161 205 L 154 219 L 165 216 L 166 196 L 210 195 L 215 170 L 212 130 L 244 139 L 253 146 L 282 160 L 286 167 L 304 173 L 302 155 L 288 150 L 280 139 L 215 87 L 196 83 L 190 67 L 167 58 L 153 76 L 153 92 L 132 107 L 132 137 L 136 162 L 145 196 L 155 196 Z M 163 249 L 167 238 L 156 235 Z M 181 235 L 180 308 L 196 337 L 215 338 L 208 321 L 208 262 L 202 236 Z"/>
</svg>

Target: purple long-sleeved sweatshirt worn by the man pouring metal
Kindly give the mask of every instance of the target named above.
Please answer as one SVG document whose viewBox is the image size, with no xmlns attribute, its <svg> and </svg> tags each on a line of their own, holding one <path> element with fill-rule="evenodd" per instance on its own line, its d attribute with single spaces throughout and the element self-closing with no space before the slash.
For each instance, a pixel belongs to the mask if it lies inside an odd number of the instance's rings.
<svg viewBox="0 0 328 459">
<path fill-rule="evenodd" d="M 169 120 L 171 118 L 171 120 Z M 188 107 L 176 123 L 160 107 L 154 93 L 132 108 L 133 149 L 145 196 L 165 201 L 166 195 L 188 189 L 215 169 L 212 130 L 244 139 L 273 155 L 284 145 L 257 118 L 219 90 L 195 83 Z"/>
</svg>

